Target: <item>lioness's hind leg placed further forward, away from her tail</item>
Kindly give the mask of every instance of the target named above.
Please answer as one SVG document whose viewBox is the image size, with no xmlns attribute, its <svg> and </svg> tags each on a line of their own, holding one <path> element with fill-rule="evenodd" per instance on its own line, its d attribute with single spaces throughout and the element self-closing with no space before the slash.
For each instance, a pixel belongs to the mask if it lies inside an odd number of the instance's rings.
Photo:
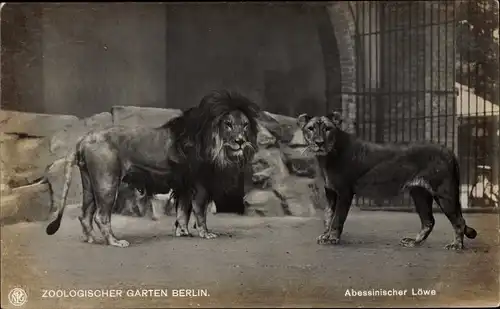
<svg viewBox="0 0 500 309">
<path fill-rule="evenodd" d="M 422 244 L 434 228 L 434 216 L 432 214 L 432 195 L 424 188 L 413 187 L 410 195 L 415 203 L 422 228 L 415 238 L 405 237 L 401 239 L 401 245 L 405 247 L 415 247 Z"/>
</svg>

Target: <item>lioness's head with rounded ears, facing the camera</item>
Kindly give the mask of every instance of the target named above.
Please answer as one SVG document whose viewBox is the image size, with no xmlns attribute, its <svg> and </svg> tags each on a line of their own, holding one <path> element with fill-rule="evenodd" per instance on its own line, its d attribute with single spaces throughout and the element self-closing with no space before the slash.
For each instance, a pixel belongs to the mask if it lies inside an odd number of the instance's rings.
<svg viewBox="0 0 500 309">
<path fill-rule="evenodd" d="M 341 130 L 342 116 L 332 112 L 327 116 L 301 114 L 297 123 L 302 130 L 309 151 L 326 155 L 333 150 L 337 133 Z"/>
</svg>

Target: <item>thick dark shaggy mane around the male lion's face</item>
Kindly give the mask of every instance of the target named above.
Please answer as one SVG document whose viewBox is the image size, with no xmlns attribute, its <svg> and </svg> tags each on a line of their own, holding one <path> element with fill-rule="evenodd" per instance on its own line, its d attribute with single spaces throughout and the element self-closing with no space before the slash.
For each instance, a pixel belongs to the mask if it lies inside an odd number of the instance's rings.
<svg viewBox="0 0 500 309">
<path fill-rule="evenodd" d="M 256 145 L 260 108 L 235 92 L 214 91 L 204 96 L 197 106 L 183 111 L 182 115 L 163 125 L 175 136 L 174 147 L 181 161 L 176 164 L 176 179 L 172 183 L 175 195 L 193 189 L 195 180 L 222 186 L 221 181 L 228 180 L 228 177 L 232 179 L 241 172 L 237 165 L 218 166 L 216 156 L 214 158 L 214 152 L 217 152 L 215 147 L 218 147 L 219 123 L 233 111 L 240 111 L 248 118 L 249 129 L 255 139 L 251 143 Z M 214 180 L 215 175 L 217 180 Z"/>
</svg>

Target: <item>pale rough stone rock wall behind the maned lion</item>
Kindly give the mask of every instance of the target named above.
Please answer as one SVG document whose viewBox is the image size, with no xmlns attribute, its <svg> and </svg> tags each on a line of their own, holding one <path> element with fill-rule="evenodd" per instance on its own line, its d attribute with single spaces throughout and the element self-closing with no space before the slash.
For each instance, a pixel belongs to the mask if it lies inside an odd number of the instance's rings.
<svg viewBox="0 0 500 309">
<path fill-rule="evenodd" d="M 114 106 L 79 119 L 0 111 L 2 222 L 47 220 L 59 207 L 64 158 L 85 133 L 111 125 L 159 126 L 180 110 Z M 245 185 L 246 214 L 313 216 L 324 205 L 316 162 L 304 154 L 294 118 L 264 112 L 259 152 Z M 81 203 L 81 179 L 73 167 L 68 204 Z"/>
</svg>

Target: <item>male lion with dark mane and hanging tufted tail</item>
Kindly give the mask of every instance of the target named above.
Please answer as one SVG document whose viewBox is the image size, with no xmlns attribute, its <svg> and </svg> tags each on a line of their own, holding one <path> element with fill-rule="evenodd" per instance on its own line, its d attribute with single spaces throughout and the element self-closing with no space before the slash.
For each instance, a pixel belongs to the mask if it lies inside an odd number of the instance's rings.
<svg viewBox="0 0 500 309">
<path fill-rule="evenodd" d="M 190 235 L 187 223 L 192 208 L 199 236 L 214 238 L 206 225 L 207 203 L 216 190 L 230 188 L 252 159 L 258 114 L 258 106 L 242 95 L 214 91 L 161 127 L 115 126 L 86 134 L 66 158 L 61 206 L 47 234 L 59 229 L 71 167 L 77 164 L 83 187 L 79 219 L 86 242 L 94 242 L 94 220 L 108 245 L 129 245 L 111 229 L 111 213 L 126 175 L 144 177 L 155 193 L 173 190 L 179 205 L 177 236 Z"/>
</svg>

